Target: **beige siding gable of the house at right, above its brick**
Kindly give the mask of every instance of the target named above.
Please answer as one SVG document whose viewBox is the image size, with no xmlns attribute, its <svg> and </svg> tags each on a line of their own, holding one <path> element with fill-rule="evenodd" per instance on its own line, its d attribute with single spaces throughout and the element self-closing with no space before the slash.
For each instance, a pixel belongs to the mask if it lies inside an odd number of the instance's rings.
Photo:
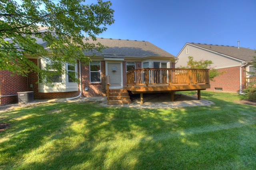
<svg viewBox="0 0 256 170">
<path fill-rule="evenodd" d="M 189 48 L 188 54 L 186 54 L 187 48 Z M 189 56 L 194 57 L 194 61 L 210 60 L 213 62 L 211 67 L 214 67 L 215 69 L 235 67 L 235 66 L 241 65 L 240 61 L 229 58 L 225 55 L 187 44 L 184 47 L 184 49 L 180 52 L 180 54 L 177 56 L 178 62 L 176 64 L 176 67 L 180 67 L 180 66 L 186 67 Z"/>
</svg>

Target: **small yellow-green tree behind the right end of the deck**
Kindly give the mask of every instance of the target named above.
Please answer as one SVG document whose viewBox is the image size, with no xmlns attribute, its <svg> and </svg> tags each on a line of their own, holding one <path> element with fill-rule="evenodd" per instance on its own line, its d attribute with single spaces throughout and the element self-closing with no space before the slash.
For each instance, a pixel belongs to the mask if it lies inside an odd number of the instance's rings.
<svg viewBox="0 0 256 170">
<path fill-rule="evenodd" d="M 189 56 L 188 57 L 188 65 L 187 67 L 183 68 L 189 68 L 189 69 L 207 69 L 212 64 L 212 61 L 210 60 L 200 60 L 200 61 L 194 61 L 194 57 Z M 223 73 L 226 73 L 226 71 L 218 71 L 217 69 L 214 69 L 210 67 L 209 71 L 209 77 L 211 81 L 214 81 L 214 77 L 217 77 L 219 75 L 222 75 Z"/>
</svg>

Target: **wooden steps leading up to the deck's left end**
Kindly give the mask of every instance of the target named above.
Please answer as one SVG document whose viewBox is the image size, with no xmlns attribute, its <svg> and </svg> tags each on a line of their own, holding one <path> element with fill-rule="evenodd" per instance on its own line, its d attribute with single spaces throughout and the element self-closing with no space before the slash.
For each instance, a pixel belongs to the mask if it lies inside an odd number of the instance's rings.
<svg viewBox="0 0 256 170">
<path fill-rule="evenodd" d="M 126 89 L 109 89 L 108 105 L 128 103 L 131 103 L 131 100 Z"/>
</svg>

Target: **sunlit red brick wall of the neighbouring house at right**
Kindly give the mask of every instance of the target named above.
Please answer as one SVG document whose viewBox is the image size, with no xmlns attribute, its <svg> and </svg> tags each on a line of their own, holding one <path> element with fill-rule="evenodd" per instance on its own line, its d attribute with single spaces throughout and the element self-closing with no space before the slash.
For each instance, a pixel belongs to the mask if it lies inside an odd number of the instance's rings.
<svg viewBox="0 0 256 170">
<path fill-rule="evenodd" d="M 243 68 L 245 69 L 245 68 Z M 218 69 L 219 71 L 226 71 L 222 75 L 214 78 L 215 81 L 210 81 L 211 88 L 207 91 L 216 91 L 215 88 L 222 88 L 223 92 L 240 92 L 240 67 L 230 67 Z M 242 71 L 242 82 L 246 77 L 246 72 Z M 243 84 L 243 83 L 242 83 Z"/>
</svg>

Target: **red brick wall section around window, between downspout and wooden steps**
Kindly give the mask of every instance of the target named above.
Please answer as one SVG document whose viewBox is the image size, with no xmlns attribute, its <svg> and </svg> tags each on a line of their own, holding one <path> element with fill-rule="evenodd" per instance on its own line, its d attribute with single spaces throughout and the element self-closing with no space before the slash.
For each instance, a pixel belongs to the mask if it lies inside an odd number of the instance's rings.
<svg viewBox="0 0 256 170">
<path fill-rule="evenodd" d="M 90 66 L 81 65 L 82 73 L 82 96 L 106 96 L 106 63 L 100 61 L 101 83 L 90 83 Z M 88 91 L 85 91 L 88 88 Z"/>
</svg>

